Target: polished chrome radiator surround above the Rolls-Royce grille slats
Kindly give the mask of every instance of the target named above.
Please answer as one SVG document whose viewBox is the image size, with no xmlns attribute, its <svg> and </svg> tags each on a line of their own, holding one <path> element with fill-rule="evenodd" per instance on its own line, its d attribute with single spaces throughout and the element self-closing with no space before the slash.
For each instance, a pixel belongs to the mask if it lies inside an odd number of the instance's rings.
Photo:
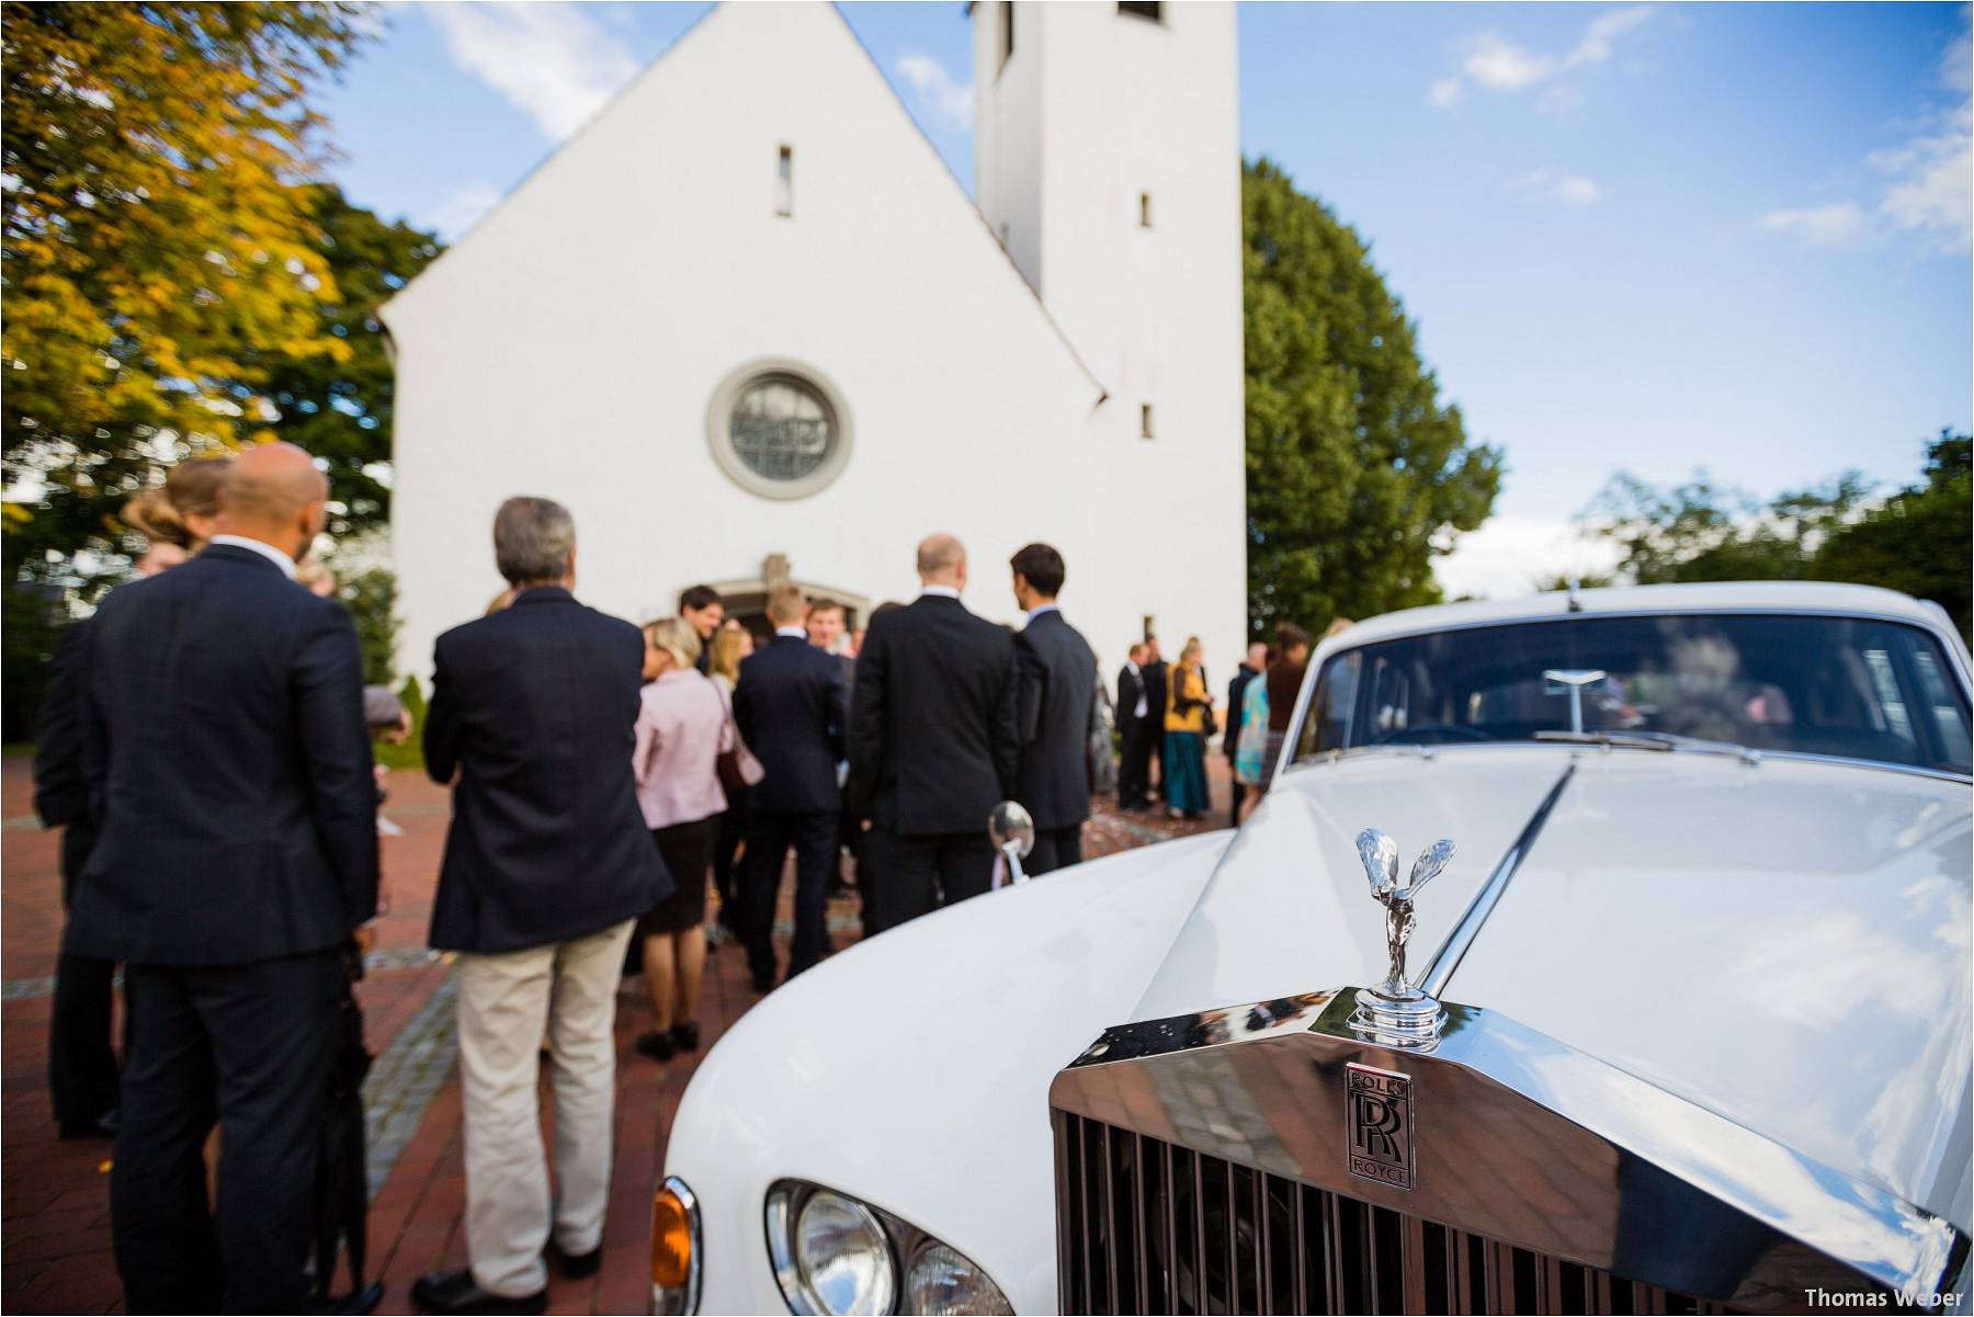
<svg viewBox="0 0 1974 1317">
<path fill-rule="evenodd" d="M 1350 1029 L 1352 989 L 1141 1021 L 1056 1074 L 1050 1108 L 1492 1240 L 1749 1311 L 1860 1276 L 1944 1289 L 1946 1220 L 1548 1035 L 1447 1003 L 1439 1050 Z M 1352 1179 L 1348 1062 L 1413 1080 L 1411 1189 Z"/>
</svg>

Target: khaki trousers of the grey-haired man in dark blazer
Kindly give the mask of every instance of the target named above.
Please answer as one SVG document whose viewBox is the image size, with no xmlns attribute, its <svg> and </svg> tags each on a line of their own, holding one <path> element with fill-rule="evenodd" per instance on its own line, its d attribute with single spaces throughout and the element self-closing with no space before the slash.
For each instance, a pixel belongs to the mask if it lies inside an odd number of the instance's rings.
<svg viewBox="0 0 1974 1317">
<path fill-rule="evenodd" d="M 543 1248 L 592 1252 L 610 1199 L 616 987 L 632 920 L 570 942 L 460 956 L 460 1080 L 466 1096 L 466 1248 L 482 1289 L 549 1287 Z M 555 1080 L 555 1177 L 535 1106 L 543 1027 Z"/>
</svg>

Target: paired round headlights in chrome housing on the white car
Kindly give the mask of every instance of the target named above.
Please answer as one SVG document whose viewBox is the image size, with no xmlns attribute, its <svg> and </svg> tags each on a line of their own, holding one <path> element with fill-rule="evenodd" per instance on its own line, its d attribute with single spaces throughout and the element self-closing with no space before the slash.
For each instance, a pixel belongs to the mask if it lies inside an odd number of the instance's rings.
<svg viewBox="0 0 1974 1317">
<path fill-rule="evenodd" d="M 959 1250 L 835 1189 L 776 1181 L 766 1224 L 774 1278 L 797 1317 L 1013 1311 Z M 910 1260 L 902 1283 L 898 1258 Z"/>
</svg>

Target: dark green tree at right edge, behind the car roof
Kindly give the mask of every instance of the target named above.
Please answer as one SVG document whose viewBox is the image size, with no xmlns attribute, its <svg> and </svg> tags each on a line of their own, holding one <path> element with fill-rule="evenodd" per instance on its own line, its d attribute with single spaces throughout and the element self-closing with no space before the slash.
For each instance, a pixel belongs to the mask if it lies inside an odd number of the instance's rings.
<svg viewBox="0 0 1974 1317">
<path fill-rule="evenodd" d="M 1968 551 L 1974 545 L 1974 438 L 1940 430 L 1927 444 L 1921 484 L 1907 486 L 1858 521 L 1834 531 L 1816 551 L 1818 581 L 1856 581 L 1903 590 L 1940 604 L 1974 634 Z"/>
</svg>

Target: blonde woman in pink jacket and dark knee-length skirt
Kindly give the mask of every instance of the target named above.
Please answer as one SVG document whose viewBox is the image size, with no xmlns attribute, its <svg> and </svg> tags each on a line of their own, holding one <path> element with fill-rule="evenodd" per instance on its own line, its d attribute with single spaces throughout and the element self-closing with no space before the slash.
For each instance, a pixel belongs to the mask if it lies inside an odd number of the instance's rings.
<svg viewBox="0 0 1974 1317">
<path fill-rule="evenodd" d="M 644 628 L 644 705 L 638 711 L 638 804 L 657 853 L 671 871 L 671 894 L 638 920 L 644 936 L 644 981 L 651 991 L 653 1031 L 638 1050 L 669 1060 L 699 1046 L 699 977 L 707 968 L 707 867 L 713 819 L 726 810 L 715 768 L 732 748 L 726 695 L 701 675 L 699 636 L 679 618 Z"/>
</svg>

